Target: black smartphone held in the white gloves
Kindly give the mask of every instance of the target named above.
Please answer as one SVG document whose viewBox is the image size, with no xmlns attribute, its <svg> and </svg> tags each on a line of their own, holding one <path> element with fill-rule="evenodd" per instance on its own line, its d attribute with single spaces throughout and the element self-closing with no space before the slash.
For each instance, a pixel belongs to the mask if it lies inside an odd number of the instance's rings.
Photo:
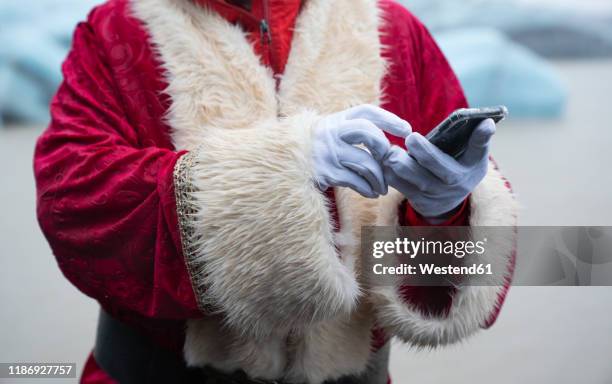
<svg viewBox="0 0 612 384">
<path fill-rule="evenodd" d="M 470 136 L 478 124 L 486 119 L 493 119 L 499 123 L 506 116 L 508 108 L 503 105 L 458 109 L 425 137 L 446 154 L 458 158 L 465 152 Z"/>
</svg>

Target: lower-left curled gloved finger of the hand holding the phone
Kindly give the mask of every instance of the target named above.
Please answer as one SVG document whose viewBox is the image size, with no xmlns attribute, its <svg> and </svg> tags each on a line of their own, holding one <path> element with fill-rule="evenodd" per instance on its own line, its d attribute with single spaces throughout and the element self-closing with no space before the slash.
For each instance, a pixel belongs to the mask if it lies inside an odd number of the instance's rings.
<svg viewBox="0 0 612 384">
<path fill-rule="evenodd" d="M 423 192 L 429 191 L 440 180 L 422 167 L 408 152 L 398 146 L 393 146 L 387 152 L 383 161 L 385 167 L 391 168 L 397 176 L 407 181 Z"/>
</svg>

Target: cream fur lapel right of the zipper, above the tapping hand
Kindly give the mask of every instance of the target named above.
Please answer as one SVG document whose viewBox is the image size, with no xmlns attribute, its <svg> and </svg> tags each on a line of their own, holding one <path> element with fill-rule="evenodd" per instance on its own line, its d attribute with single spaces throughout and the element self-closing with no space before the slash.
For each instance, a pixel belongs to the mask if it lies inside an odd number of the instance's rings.
<svg viewBox="0 0 612 384">
<path fill-rule="evenodd" d="M 375 0 L 309 0 L 296 22 L 278 91 L 291 115 L 306 105 L 322 114 L 380 102 L 381 58 Z"/>
</svg>

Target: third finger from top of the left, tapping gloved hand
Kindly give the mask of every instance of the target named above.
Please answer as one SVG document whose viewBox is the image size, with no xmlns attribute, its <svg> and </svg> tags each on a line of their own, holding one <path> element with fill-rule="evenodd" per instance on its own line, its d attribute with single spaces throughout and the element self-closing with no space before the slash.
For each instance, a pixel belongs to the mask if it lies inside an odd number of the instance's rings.
<svg viewBox="0 0 612 384">
<path fill-rule="evenodd" d="M 340 164 L 363 177 L 374 191 L 387 194 L 387 184 L 380 164 L 363 149 L 347 145 L 338 153 Z"/>
</svg>

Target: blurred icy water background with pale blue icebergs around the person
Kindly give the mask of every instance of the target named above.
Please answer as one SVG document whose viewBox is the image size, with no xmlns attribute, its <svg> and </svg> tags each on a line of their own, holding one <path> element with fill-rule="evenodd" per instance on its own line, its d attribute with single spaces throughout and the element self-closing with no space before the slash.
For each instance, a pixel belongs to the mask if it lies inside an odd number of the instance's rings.
<svg viewBox="0 0 612 384">
<path fill-rule="evenodd" d="M 74 25 L 97 2 L 0 3 L 0 362 L 80 370 L 93 346 L 98 307 L 38 229 L 31 160 Z M 611 225 L 612 0 L 401 2 L 472 105 L 509 107 L 493 154 L 520 224 Z M 396 345 L 391 371 L 395 383 L 610 384 L 612 288 L 515 287 L 492 329 L 443 350 Z"/>
</svg>

